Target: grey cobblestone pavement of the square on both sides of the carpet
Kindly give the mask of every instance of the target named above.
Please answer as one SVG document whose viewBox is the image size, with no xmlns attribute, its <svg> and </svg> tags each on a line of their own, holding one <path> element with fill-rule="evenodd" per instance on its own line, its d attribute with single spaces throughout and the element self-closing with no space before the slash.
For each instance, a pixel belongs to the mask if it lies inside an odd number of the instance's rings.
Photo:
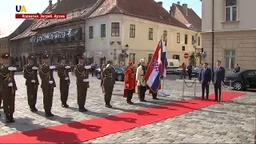
<svg viewBox="0 0 256 144">
<path fill-rule="evenodd" d="M 100 88 L 100 80 L 90 78 L 90 89 L 87 92 L 86 113 L 78 112 L 77 94 L 74 76 L 70 75 L 69 109 L 62 108 L 60 102 L 58 76 L 54 74 L 57 87 L 54 89 L 53 118 L 45 118 L 42 106 L 42 90 L 38 89 L 38 113 L 31 113 L 26 101 L 25 79 L 22 75 L 15 75 L 18 91 L 16 94 L 14 118 L 16 122 L 5 124 L 4 114 L 0 113 L 0 135 L 12 134 L 17 131 L 34 130 L 46 126 L 56 126 L 62 123 L 78 122 L 90 118 L 119 114 L 130 110 L 162 105 L 166 102 L 180 101 L 182 95 L 182 82 L 165 81 L 164 91 L 169 97 L 161 97 L 159 101 L 152 100 L 150 94 L 146 96 L 148 102 L 138 101 L 134 94 L 134 106 L 126 104 L 122 98 L 123 82 L 116 82 L 112 98 L 113 109 L 105 107 Z M 191 85 L 188 83 L 187 85 Z M 197 96 L 201 88 L 197 84 Z M 213 86 L 210 86 L 210 93 Z M 194 86 L 185 89 L 185 99 L 194 98 Z M 160 98 L 160 97 L 159 97 Z M 97 138 L 89 143 L 170 143 L 170 142 L 235 142 L 251 143 L 254 141 L 254 110 L 255 93 L 247 92 L 243 97 L 236 98 L 235 102 L 225 102 L 223 105 L 214 105 L 155 122 L 146 126 L 125 130 Z M 88 143 L 86 142 L 86 143 Z"/>
</svg>

